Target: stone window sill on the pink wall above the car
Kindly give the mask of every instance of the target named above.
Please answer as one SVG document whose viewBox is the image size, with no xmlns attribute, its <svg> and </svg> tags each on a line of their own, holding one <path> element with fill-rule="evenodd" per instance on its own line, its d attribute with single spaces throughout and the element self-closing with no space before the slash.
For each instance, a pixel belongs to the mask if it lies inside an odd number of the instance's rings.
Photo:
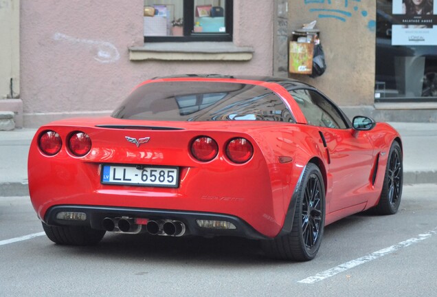
<svg viewBox="0 0 437 297">
<path fill-rule="evenodd" d="M 249 61 L 252 47 L 238 47 L 232 42 L 144 43 L 129 47 L 131 61 Z"/>
</svg>

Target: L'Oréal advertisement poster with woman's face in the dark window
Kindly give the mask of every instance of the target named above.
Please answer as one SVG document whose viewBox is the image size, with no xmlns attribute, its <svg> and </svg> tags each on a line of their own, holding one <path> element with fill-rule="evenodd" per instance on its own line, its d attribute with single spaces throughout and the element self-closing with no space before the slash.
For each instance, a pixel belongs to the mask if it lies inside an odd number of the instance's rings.
<svg viewBox="0 0 437 297">
<path fill-rule="evenodd" d="M 437 0 L 393 0 L 392 45 L 437 45 Z"/>
</svg>

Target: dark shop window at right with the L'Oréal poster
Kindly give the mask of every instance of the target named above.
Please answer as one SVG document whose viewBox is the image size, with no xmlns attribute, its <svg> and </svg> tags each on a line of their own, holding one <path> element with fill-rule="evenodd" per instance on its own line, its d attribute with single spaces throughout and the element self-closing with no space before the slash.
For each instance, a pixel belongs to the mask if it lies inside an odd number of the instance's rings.
<svg viewBox="0 0 437 297">
<path fill-rule="evenodd" d="M 375 102 L 437 101 L 437 3 L 377 0 Z"/>
</svg>

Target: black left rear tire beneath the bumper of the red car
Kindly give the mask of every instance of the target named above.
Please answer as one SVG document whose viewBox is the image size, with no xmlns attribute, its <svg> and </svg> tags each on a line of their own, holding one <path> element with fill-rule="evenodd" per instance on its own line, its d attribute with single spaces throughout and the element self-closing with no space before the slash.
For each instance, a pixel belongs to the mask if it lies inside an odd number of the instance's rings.
<svg viewBox="0 0 437 297">
<path fill-rule="evenodd" d="M 60 245 L 96 245 L 106 231 L 94 230 L 87 226 L 55 226 L 43 223 L 47 237 Z"/>
</svg>

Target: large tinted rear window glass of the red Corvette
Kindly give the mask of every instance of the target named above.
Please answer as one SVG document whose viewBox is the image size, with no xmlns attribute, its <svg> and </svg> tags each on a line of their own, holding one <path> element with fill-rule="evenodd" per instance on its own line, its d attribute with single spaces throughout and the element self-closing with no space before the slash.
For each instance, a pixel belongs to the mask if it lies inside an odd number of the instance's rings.
<svg viewBox="0 0 437 297">
<path fill-rule="evenodd" d="M 281 98 L 265 87 L 181 81 L 142 85 L 112 116 L 129 120 L 294 122 Z"/>
</svg>

